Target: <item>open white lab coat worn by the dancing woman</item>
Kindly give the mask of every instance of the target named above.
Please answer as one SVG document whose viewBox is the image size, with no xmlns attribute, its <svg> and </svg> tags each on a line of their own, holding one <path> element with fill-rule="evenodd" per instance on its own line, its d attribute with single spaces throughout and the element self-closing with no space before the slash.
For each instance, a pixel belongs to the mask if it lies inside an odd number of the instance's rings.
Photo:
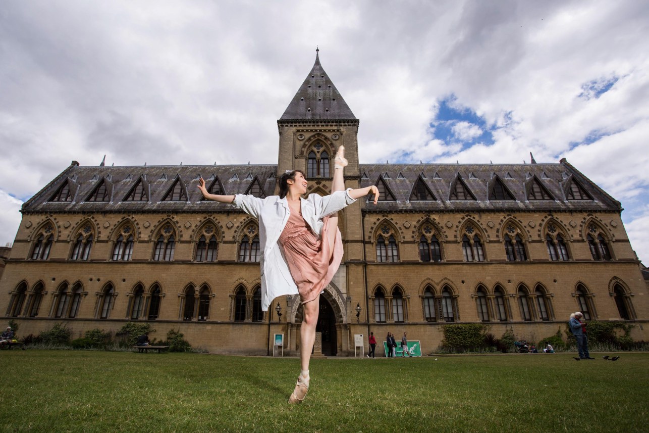
<svg viewBox="0 0 649 433">
<path fill-rule="evenodd" d="M 356 202 L 349 196 L 350 189 L 337 191 L 324 197 L 310 194 L 306 199 L 300 198 L 302 217 L 313 233 L 320 235 L 323 228 L 322 218 Z M 277 296 L 298 294 L 297 285 L 293 281 L 282 248 L 278 244 L 288 217 L 291 215 L 291 209 L 286 197 L 258 198 L 250 194 L 236 194 L 232 205 L 259 221 L 262 310 L 268 311 L 268 306 Z"/>
</svg>

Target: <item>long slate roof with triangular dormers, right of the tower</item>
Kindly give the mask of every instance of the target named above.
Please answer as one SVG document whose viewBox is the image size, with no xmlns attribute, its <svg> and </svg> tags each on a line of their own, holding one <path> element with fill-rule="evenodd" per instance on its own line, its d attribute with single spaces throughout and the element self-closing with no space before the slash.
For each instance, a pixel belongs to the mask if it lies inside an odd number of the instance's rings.
<svg viewBox="0 0 649 433">
<path fill-rule="evenodd" d="M 620 202 L 565 159 L 558 164 L 360 164 L 359 171 L 361 187 L 376 185 L 381 177 L 395 197 L 393 202 L 364 203 L 367 211 L 622 211 Z M 420 176 L 437 200 L 410 201 Z M 450 200 L 450 189 L 458 176 L 476 200 Z M 489 200 L 496 176 L 515 200 Z M 528 200 L 535 180 L 554 200 Z M 572 181 L 577 181 L 593 200 L 567 200 Z"/>
</svg>

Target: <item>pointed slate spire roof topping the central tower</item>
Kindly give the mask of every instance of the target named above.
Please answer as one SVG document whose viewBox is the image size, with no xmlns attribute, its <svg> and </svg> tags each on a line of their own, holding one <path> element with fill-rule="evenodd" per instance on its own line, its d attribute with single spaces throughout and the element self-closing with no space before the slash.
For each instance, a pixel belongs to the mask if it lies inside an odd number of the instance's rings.
<svg viewBox="0 0 649 433">
<path fill-rule="evenodd" d="M 311 72 L 279 121 L 286 120 L 357 120 L 343 96 L 324 72 L 317 51 Z"/>
</svg>

